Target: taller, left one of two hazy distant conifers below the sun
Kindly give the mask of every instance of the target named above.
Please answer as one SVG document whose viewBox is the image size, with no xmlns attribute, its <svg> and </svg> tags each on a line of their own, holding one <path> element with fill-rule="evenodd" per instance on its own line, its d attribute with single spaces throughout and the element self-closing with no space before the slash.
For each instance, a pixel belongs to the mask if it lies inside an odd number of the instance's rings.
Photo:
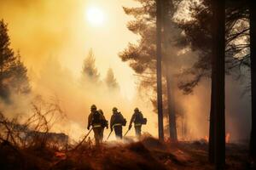
<svg viewBox="0 0 256 170">
<path fill-rule="evenodd" d="M 83 81 L 90 81 L 94 83 L 99 82 L 100 74 L 96 69 L 95 61 L 95 55 L 93 54 L 92 49 L 90 49 L 89 54 L 87 55 L 86 59 L 84 59 L 84 65 L 82 70 Z"/>
</svg>

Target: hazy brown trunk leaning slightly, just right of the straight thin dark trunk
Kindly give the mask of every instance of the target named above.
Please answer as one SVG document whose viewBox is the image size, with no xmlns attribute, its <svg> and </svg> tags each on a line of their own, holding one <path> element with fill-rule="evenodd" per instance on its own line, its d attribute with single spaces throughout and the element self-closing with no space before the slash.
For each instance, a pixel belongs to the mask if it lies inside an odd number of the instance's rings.
<svg viewBox="0 0 256 170">
<path fill-rule="evenodd" d="M 164 71 L 166 75 L 166 95 L 167 95 L 167 108 L 169 118 L 169 134 L 172 141 L 177 141 L 177 127 L 176 127 L 176 111 L 175 111 L 175 99 L 174 99 L 174 69 L 172 61 L 177 59 L 177 54 L 173 53 L 175 39 L 174 35 L 178 35 L 178 30 L 175 28 L 176 24 L 172 21 L 174 14 L 174 6 L 172 0 L 164 0 L 162 9 L 162 20 L 163 20 L 163 63 Z M 172 52 L 170 52 L 172 50 Z"/>
</svg>

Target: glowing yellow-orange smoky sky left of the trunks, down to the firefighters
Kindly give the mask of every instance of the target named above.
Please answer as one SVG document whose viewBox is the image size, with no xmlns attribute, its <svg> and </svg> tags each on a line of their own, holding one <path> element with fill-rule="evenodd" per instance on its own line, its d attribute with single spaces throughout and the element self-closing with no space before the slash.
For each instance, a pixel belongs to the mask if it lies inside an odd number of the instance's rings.
<svg viewBox="0 0 256 170">
<path fill-rule="evenodd" d="M 0 18 L 8 23 L 11 48 L 20 51 L 33 92 L 61 99 L 68 121 L 72 122 L 65 133 L 76 133 L 76 137 L 83 133 L 90 105 L 96 104 L 108 119 L 113 106 L 118 107 L 127 121 L 133 108 L 139 107 L 145 116 L 151 116 L 148 119 L 151 126 L 144 131 L 156 135 L 157 119 L 152 105 L 138 99 L 134 72 L 118 56 L 128 42 L 137 42 L 138 37 L 126 28 L 131 18 L 122 8 L 137 3 L 127 0 L 108 3 L 106 0 L 0 0 L 0 3 Z M 98 19 L 98 13 L 100 24 L 94 20 Z M 79 87 L 83 61 L 90 48 L 102 80 L 108 68 L 113 69 L 120 94 L 113 96 L 108 89 L 88 84 Z"/>
</svg>

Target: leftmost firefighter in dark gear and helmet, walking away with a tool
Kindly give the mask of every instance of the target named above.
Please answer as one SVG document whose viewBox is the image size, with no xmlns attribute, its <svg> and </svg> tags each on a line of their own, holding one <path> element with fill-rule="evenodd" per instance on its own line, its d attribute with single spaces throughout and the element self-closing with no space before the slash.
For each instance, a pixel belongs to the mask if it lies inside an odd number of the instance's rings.
<svg viewBox="0 0 256 170">
<path fill-rule="evenodd" d="M 97 111 L 96 105 L 91 105 L 90 115 L 88 116 L 87 129 L 90 130 L 90 126 L 92 126 L 96 145 L 100 144 L 103 139 L 102 137 L 104 125 L 102 124 L 102 122 L 104 122 L 104 120 L 106 120 L 105 117 L 101 113 L 99 113 L 99 111 Z"/>
</svg>

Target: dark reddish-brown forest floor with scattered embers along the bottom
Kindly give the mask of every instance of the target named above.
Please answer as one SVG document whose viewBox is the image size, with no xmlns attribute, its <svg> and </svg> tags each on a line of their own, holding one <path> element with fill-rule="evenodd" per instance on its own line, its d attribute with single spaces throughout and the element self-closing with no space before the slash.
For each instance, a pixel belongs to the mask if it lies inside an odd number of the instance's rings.
<svg viewBox="0 0 256 170">
<path fill-rule="evenodd" d="M 138 142 L 108 142 L 101 147 L 82 144 L 77 150 L 54 148 L 18 149 L 9 143 L 0 145 L 1 169 L 213 169 L 207 161 L 207 143 L 160 143 L 147 137 Z M 247 146 L 227 144 L 226 169 L 253 169 Z"/>
</svg>

